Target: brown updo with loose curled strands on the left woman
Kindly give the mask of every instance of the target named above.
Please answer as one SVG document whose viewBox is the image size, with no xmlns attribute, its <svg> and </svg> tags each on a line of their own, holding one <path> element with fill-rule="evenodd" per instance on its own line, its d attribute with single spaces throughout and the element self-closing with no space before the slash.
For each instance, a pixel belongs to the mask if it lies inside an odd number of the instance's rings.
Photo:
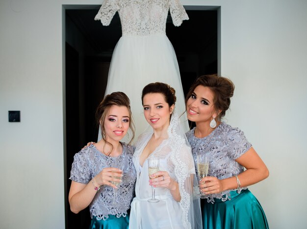
<svg viewBox="0 0 307 229">
<path fill-rule="evenodd" d="M 118 92 L 113 92 L 111 94 L 106 95 L 103 100 L 101 101 L 101 103 L 99 104 L 99 106 L 97 107 L 96 110 L 96 120 L 98 125 L 101 126 L 101 132 L 102 132 L 102 139 L 104 140 L 105 143 L 108 143 L 112 146 L 113 149 L 113 145 L 109 142 L 106 141 L 105 138 L 105 129 L 104 129 L 104 120 L 105 117 L 108 113 L 108 111 L 110 110 L 110 107 L 116 105 L 119 107 L 127 107 L 128 112 L 129 112 L 129 129 L 132 132 L 132 139 L 129 142 L 129 144 L 132 142 L 133 138 L 134 138 L 134 132 L 135 132 L 135 127 L 134 127 L 134 123 L 132 120 L 132 113 L 131 113 L 131 109 L 130 109 L 130 100 L 128 98 L 128 96 L 121 91 Z M 105 145 L 104 145 L 105 146 Z M 104 147 L 103 147 L 104 148 Z"/>
</svg>

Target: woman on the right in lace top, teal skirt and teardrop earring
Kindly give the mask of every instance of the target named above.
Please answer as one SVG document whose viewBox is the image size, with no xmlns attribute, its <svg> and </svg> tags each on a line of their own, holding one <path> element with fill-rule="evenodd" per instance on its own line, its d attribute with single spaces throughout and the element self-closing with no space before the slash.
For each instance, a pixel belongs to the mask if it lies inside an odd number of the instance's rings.
<svg viewBox="0 0 307 229">
<path fill-rule="evenodd" d="M 229 79 L 207 75 L 195 81 L 185 99 L 187 117 L 196 123 L 186 133 L 194 160 L 197 154 L 209 158 L 208 176 L 200 181 L 203 227 L 268 229 L 264 211 L 247 186 L 267 178 L 269 171 L 244 133 L 221 121 L 233 91 Z"/>
</svg>

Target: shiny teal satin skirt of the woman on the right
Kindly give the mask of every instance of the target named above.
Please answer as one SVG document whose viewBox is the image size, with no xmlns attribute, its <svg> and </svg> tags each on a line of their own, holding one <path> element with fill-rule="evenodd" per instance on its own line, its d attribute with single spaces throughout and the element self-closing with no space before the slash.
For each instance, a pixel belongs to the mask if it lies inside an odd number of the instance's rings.
<svg viewBox="0 0 307 229">
<path fill-rule="evenodd" d="M 231 200 L 201 200 L 204 229 L 268 229 L 264 211 L 249 190 L 231 191 Z"/>
</svg>

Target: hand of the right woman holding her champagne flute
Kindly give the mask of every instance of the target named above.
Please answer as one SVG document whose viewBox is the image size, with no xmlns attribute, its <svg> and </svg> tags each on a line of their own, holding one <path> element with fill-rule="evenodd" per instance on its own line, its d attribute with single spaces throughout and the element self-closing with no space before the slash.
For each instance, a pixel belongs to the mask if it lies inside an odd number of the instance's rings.
<svg viewBox="0 0 307 229">
<path fill-rule="evenodd" d="M 213 194 L 224 191 L 222 180 L 219 180 L 214 176 L 206 176 L 202 178 L 199 187 L 203 194 Z"/>
</svg>

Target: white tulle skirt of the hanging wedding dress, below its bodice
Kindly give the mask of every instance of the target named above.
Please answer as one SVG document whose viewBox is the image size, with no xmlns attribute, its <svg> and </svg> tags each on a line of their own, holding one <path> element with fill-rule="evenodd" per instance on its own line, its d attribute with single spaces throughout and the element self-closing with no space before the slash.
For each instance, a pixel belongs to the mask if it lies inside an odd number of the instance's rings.
<svg viewBox="0 0 307 229">
<path fill-rule="evenodd" d="M 142 89 L 154 82 L 166 83 L 175 88 L 177 96 L 175 109 L 179 115 L 183 114 L 185 104 L 179 66 L 174 48 L 167 36 L 164 34 L 122 36 L 113 52 L 105 95 L 114 91 L 123 91 L 128 95 L 136 137 L 148 126 L 143 114 Z M 188 130 L 186 114 L 180 117 L 180 121 L 182 131 L 186 132 Z M 131 134 L 128 138 L 131 138 Z M 123 142 L 128 142 L 128 139 L 124 138 Z"/>
</svg>

